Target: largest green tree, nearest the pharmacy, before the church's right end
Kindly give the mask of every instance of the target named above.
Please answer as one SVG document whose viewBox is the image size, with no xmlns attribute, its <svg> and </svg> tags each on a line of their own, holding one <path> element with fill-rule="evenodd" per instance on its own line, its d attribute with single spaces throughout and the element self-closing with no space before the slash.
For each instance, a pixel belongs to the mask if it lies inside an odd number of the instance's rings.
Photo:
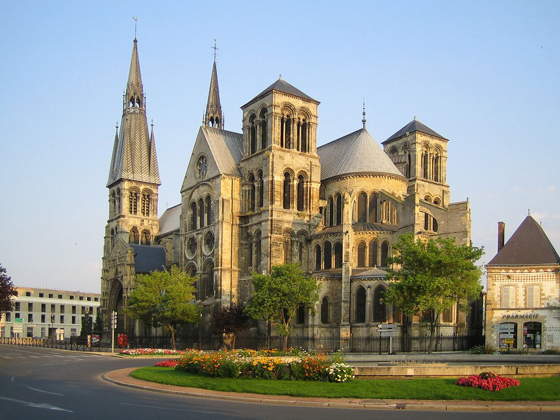
<svg viewBox="0 0 560 420">
<path fill-rule="evenodd" d="M 474 263 L 484 249 L 458 246 L 454 239 L 441 237 L 415 241 L 412 234 L 401 236 L 393 249 L 394 256 L 387 262 L 399 268 L 388 270 L 388 279 L 394 283 L 385 292 L 385 302 L 393 303 L 406 315 L 422 316 L 427 321 L 431 353 L 441 312 L 455 303 L 465 310 L 479 297 L 482 269 Z"/>
</svg>

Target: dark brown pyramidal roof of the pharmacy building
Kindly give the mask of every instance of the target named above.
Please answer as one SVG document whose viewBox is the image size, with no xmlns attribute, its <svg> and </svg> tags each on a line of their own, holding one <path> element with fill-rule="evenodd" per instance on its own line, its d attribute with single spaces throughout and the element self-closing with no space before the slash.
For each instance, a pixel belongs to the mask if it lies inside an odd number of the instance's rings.
<svg viewBox="0 0 560 420">
<path fill-rule="evenodd" d="M 548 264 L 560 264 L 560 256 L 539 223 L 527 216 L 487 265 Z"/>
</svg>

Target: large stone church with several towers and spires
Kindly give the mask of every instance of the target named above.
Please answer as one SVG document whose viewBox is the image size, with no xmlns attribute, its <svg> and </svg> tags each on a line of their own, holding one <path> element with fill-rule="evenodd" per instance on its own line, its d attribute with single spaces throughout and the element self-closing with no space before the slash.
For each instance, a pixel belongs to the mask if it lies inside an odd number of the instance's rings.
<svg viewBox="0 0 560 420">
<path fill-rule="evenodd" d="M 207 318 L 246 304 L 251 272 L 298 263 L 321 286 L 300 335 L 371 335 L 403 322 L 382 291 L 386 259 L 404 233 L 470 242 L 468 201 L 451 203 L 447 142 L 414 118 L 384 142 L 361 127 L 318 146 L 319 101 L 279 78 L 241 106 L 242 133 L 224 129 L 214 60 L 206 113 L 186 164 L 181 203 L 157 217 L 158 175 L 137 41 L 111 158 L 101 305 L 122 314 L 134 275 L 176 264 L 197 276 Z M 120 316 L 119 328 L 134 329 Z M 420 328 L 421 320 L 409 320 Z M 469 334 L 468 314 L 441 316 L 443 334 Z M 106 323 L 108 325 L 108 323 Z"/>
</svg>

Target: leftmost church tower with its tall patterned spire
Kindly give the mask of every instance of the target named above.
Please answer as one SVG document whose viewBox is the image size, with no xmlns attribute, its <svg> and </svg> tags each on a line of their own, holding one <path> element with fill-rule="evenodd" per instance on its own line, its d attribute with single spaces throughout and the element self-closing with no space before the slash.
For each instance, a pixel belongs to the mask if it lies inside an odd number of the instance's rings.
<svg viewBox="0 0 560 420">
<path fill-rule="evenodd" d="M 157 193 L 160 185 L 153 125 L 149 132 L 138 41 L 134 38 L 123 97 L 123 116 L 120 130 L 117 128 L 115 134 L 106 185 L 109 189 L 109 218 L 105 227 L 101 278 L 101 306 L 104 309 L 122 308 L 123 300 L 132 290 L 133 273 L 120 272 L 115 260 L 121 251 L 115 248 L 124 249 L 123 243 L 151 245 L 159 232 Z"/>
</svg>

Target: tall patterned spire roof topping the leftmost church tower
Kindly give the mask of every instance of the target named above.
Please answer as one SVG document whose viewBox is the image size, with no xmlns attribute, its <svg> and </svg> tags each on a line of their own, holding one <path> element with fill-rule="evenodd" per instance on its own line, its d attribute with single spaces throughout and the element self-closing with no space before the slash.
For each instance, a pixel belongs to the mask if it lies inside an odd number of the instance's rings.
<svg viewBox="0 0 560 420">
<path fill-rule="evenodd" d="M 153 127 L 151 135 L 148 133 L 146 101 L 144 100 L 136 38 L 134 38 L 132 47 L 128 82 L 123 101 L 123 116 L 120 131 L 115 136 L 107 186 L 121 179 L 161 184 Z"/>
</svg>

